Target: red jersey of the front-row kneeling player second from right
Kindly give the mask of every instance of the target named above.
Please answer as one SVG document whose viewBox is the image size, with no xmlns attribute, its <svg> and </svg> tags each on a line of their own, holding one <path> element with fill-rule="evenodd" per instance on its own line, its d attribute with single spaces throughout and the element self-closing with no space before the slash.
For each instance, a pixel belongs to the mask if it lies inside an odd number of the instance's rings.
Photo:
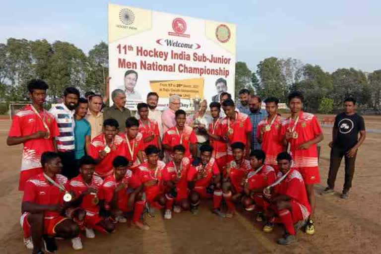
<svg viewBox="0 0 381 254">
<path fill-rule="evenodd" d="M 249 185 L 249 190 L 267 187 L 276 180 L 276 172 L 271 166 L 263 165 L 258 173 L 255 174 L 255 171 L 254 169 L 251 170 L 246 180 Z"/>
</svg>

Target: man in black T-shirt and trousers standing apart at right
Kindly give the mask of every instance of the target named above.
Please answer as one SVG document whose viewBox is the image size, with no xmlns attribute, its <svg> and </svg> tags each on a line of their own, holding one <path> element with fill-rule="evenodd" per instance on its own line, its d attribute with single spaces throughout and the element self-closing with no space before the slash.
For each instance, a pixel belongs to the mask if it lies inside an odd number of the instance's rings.
<svg viewBox="0 0 381 254">
<path fill-rule="evenodd" d="M 352 97 L 345 99 L 344 112 L 337 115 L 332 130 L 331 158 L 329 163 L 328 187 L 321 192 L 322 195 L 333 194 L 337 171 L 341 159 L 345 160 L 345 180 L 341 198 L 348 198 L 348 191 L 352 187 L 355 172 L 357 149 L 365 140 L 364 118 L 355 112 L 356 100 Z M 360 138 L 358 137 L 360 132 Z"/>
</svg>

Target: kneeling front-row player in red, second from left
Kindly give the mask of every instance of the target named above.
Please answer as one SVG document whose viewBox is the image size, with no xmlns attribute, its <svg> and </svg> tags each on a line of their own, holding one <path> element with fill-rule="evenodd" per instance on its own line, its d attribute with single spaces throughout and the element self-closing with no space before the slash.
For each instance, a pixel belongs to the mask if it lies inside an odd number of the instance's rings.
<svg viewBox="0 0 381 254">
<path fill-rule="evenodd" d="M 71 202 L 76 208 L 70 212 L 74 221 L 83 225 L 87 238 L 94 238 L 93 229 L 102 233 L 111 233 L 115 230 L 115 225 L 104 220 L 99 215 L 99 203 L 103 201 L 102 178 L 95 176 L 96 161 L 88 155 L 79 160 L 79 175 L 70 180 L 69 190 L 73 191 L 75 198 Z M 66 212 L 67 214 L 67 212 Z"/>
</svg>

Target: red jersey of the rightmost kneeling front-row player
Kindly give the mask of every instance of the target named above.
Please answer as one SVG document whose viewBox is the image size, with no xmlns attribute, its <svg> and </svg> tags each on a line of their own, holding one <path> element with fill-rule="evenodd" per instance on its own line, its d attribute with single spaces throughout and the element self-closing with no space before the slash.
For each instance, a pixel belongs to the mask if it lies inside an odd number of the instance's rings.
<svg viewBox="0 0 381 254">
<path fill-rule="evenodd" d="M 291 168 L 286 178 L 276 186 L 276 192 L 279 195 L 287 195 L 296 200 L 301 205 L 302 213 L 307 214 L 307 216 L 303 217 L 308 217 L 311 207 L 303 177 L 298 170 Z"/>
</svg>

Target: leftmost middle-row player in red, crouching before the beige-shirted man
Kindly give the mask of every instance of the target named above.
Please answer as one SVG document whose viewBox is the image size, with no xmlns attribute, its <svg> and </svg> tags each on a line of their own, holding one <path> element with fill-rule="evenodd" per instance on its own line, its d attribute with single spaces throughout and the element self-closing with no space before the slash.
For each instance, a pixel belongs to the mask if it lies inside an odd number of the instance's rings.
<svg viewBox="0 0 381 254">
<path fill-rule="evenodd" d="M 113 160 L 126 154 L 126 144 L 118 135 L 119 124 L 115 119 L 103 122 L 103 133 L 94 137 L 90 143 L 89 155 L 95 159 L 96 175 L 105 178 L 113 174 Z"/>
</svg>

